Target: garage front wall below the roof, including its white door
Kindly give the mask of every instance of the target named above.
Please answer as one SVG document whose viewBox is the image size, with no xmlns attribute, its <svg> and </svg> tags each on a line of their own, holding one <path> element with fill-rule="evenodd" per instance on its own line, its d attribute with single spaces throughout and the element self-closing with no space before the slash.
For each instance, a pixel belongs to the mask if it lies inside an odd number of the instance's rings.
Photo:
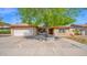
<svg viewBox="0 0 87 65">
<path fill-rule="evenodd" d="M 29 28 L 29 29 L 12 29 L 11 34 L 14 36 L 31 36 L 36 34 L 36 29 Z"/>
</svg>

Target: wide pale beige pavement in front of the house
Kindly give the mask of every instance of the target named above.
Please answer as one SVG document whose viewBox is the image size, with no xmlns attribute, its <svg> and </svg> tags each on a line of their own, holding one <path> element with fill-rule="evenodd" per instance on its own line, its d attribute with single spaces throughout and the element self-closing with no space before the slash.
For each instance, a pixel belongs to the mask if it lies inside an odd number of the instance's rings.
<svg viewBox="0 0 87 65">
<path fill-rule="evenodd" d="M 87 45 L 64 37 L 48 41 L 0 36 L 0 56 L 87 56 Z"/>
</svg>

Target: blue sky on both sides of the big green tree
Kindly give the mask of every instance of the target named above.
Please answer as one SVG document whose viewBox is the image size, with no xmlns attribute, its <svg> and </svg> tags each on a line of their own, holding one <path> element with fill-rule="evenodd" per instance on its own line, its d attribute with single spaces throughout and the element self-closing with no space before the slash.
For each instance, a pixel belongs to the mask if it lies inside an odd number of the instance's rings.
<svg viewBox="0 0 87 65">
<path fill-rule="evenodd" d="M 17 8 L 0 8 L 0 18 L 3 22 L 17 24 L 21 23 L 19 11 Z M 78 17 L 76 17 L 76 22 L 74 24 L 85 24 L 87 23 L 87 10 L 81 10 Z"/>
</svg>

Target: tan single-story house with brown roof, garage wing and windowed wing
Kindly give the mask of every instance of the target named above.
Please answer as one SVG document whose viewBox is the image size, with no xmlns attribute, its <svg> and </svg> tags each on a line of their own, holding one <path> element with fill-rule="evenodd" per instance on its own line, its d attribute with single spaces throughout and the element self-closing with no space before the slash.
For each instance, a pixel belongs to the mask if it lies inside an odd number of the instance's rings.
<svg viewBox="0 0 87 65">
<path fill-rule="evenodd" d="M 31 24 L 13 24 L 11 25 L 11 35 L 13 36 L 30 36 L 30 35 L 36 35 L 40 31 L 42 31 L 41 28 L 31 25 Z M 69 35 L 72 33 L 70 26 L 53 26 L 48 28 L 46 30 L 48 34 L 59 36 L 59 35 Z"/>
</svg>

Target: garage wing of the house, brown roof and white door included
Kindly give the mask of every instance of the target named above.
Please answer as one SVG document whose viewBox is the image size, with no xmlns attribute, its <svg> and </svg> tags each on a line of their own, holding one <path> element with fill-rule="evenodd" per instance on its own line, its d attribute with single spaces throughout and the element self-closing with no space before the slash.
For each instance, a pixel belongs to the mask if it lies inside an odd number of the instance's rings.
<svg viewBox="0 0 87 65">
<path fill-rule="evenodd" d="M 36 26 L 29 24 L 11 25 L 11 35 L 13 36 L 31 36 L 36 35 Z"/>
</svg>

